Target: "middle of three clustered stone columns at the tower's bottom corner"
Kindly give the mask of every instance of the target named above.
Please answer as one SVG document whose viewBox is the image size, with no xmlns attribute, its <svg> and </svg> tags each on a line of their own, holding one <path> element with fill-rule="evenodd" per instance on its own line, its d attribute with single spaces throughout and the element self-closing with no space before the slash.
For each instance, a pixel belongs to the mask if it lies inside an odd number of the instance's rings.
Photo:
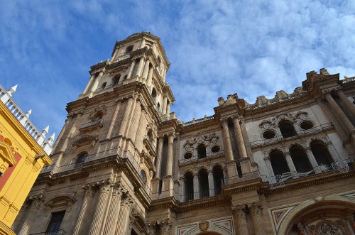
<svg viewBox="0 0 355 235">
<path fill-rule="evenodd" d="M 109 213 L 107 214 L 107 221 L 106 225 L 104 226 L 104 234 L 111 234 L 115 233 L 116 224 L 119 220 L 119 210 L 121 207 L 121 196 L 126 190 L 124 187 L 121 186 L 121 183 L 116 183 L 114 185 L 114 189 L 112 190 L 112 199 L 111 204 L 109 207 Z"/>
</svg>

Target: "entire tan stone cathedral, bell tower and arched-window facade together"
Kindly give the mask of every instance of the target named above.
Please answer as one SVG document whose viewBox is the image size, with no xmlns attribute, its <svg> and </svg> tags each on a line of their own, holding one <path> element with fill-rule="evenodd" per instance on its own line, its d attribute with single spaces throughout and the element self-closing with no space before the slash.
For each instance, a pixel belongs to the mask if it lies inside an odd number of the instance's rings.
<svg viewBox="0 0 355 235">
<path fill-rule="evenodd" d="M 182 122 L 155 35 L 91 67 L 17 224 L 30 234 L 351 234 L 355 79 L 308 72 L 293 94 L 219 98 Z M 54 219 L 53 219 L 54 218 Z M 21 228 L 21 226 L 18 226 Z"/>
</svg>

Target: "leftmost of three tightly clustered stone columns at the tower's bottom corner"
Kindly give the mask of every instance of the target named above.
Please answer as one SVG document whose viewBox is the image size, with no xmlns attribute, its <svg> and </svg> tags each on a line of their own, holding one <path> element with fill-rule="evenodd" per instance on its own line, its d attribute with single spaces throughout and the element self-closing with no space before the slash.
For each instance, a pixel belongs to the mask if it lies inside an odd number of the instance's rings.
<svg viewBox="0 0 355 235">
<path fill-rule="evenodd" d="M 92 224 L 89 230 L 89 234 L 92 235 L 100 234 L 102 232 L 102 223 L 105 219 L 107 200 L 109 200 L 109 192 L 111 192 L 111 188 L 113 187 L 111 180 L 97 182 L 97 186 L 99 187 L 99 198 L 94 212 L 94 219 L 92 219 Z"/>
</svg>

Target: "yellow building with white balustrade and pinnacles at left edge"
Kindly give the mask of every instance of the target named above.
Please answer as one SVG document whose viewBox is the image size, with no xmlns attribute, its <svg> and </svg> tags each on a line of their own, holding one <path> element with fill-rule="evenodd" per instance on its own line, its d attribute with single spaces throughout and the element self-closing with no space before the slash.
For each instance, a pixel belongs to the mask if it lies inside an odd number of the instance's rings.
<svg viewBox="0 0 355 235">
<path fill-rule="evenodd" d="M 0 234 L 15 234 L 10 228 L 25 202 L 35 179 L 44 165 L 52 163 L 54 133 L 48 141 L 45 134 L 23 114 L 11 94 L 0 86 Z"/>
</svg>

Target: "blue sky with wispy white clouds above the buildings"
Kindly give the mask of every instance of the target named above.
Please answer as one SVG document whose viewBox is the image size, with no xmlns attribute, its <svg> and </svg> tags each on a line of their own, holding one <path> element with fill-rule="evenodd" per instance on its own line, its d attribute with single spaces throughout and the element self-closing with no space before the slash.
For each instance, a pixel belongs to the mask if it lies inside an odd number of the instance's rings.
<svg viewBox="0 0 355 235">
<path fill-rule="evenodd" d="M 217 98 L 291 93 L 306 72 L 355 76 L 355 1 L 0 1 L 0 83 L 58 135 L 67 102 L 116 40 L 150 31 L 171 62 L 179 119 L 212 115 Z"/>
</svg>

